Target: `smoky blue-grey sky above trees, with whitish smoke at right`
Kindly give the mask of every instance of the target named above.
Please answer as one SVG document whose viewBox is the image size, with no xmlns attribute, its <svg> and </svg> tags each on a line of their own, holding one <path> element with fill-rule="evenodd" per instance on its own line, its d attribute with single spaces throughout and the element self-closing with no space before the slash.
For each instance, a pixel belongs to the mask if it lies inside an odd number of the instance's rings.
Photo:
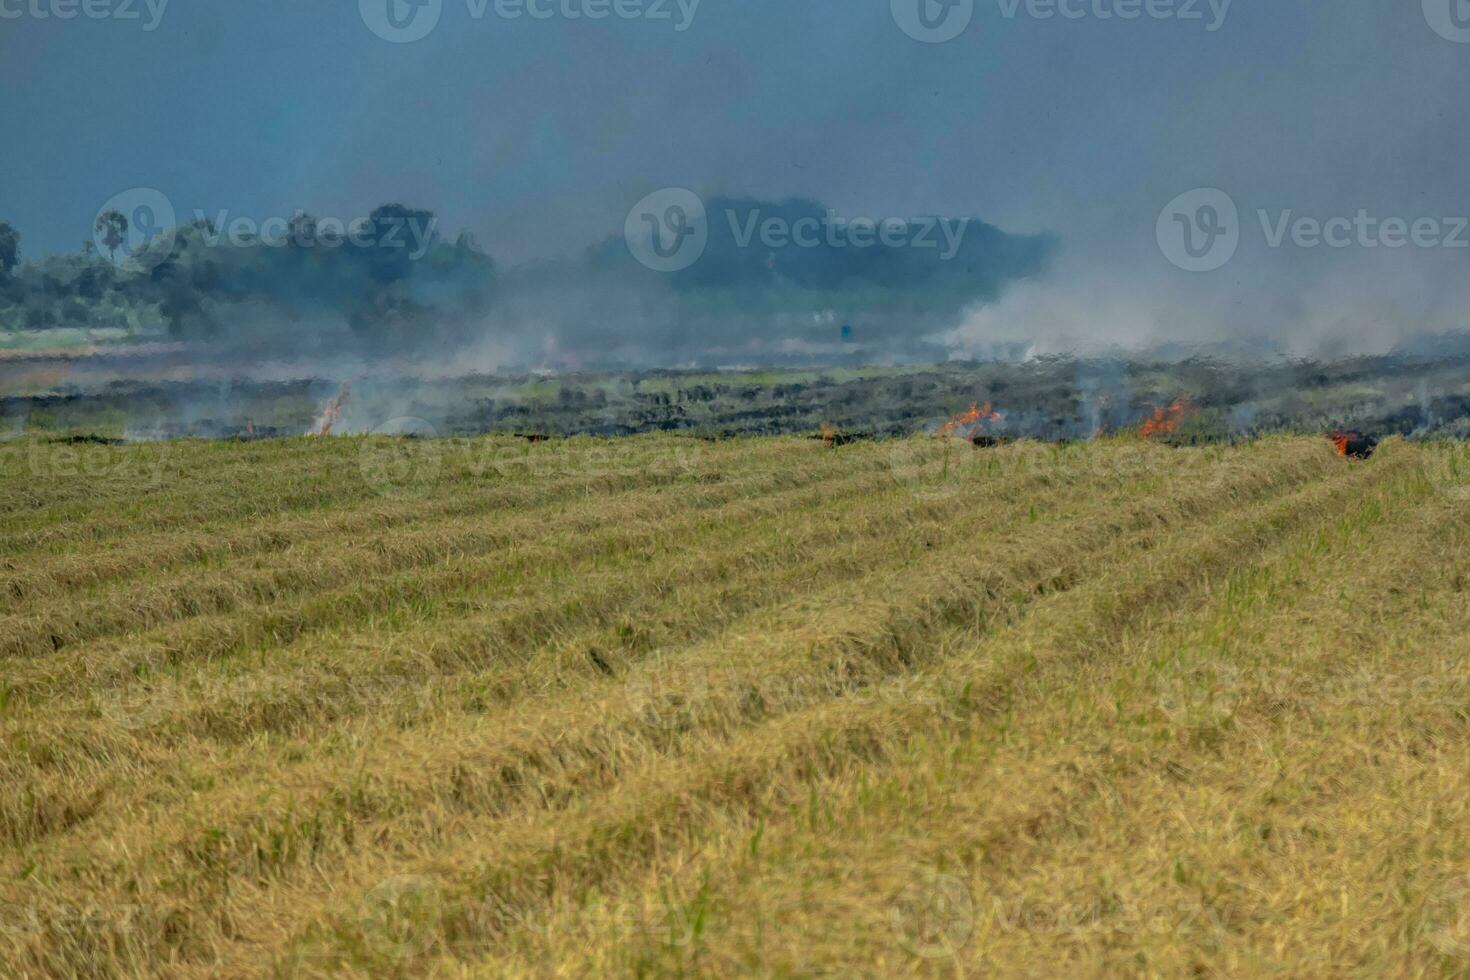
<svg viewBox="0 0 1470 980">
<path fill-rule="evenodd" d="M 1057 237 L 957 351 L 1376 351 L 1470 328 L 1467 82 L 1467 0 L 0 0 L 0 220 L 34 257 L 137 187 L 184 217 L 403 201 L 516 264 L 662 188 L 806 197 Z"/>
</svg>

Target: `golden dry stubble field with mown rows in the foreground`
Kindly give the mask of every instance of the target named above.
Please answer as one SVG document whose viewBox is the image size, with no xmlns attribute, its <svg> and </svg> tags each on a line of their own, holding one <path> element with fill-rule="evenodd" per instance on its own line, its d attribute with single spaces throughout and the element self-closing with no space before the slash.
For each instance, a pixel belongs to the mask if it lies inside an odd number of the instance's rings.
<svg viewBox="0 0 1470 980">
<path fill-rule="evenodd" d="M 1470 974 L 1470 450 L 0 444 L 0 976 Z"/>
</svg>

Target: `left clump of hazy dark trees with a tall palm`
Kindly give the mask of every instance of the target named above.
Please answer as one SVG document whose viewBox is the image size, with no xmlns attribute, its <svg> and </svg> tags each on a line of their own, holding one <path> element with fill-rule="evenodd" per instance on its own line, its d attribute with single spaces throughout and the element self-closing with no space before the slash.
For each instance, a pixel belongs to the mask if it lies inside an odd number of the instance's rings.
<svg viewBox="0 0 1470 980">
<path fill-rule="evenodd" d="M 432 212 L 384 204 L 350 231 L 297 213 L 273 239 L 207 219 L 128 251 L 128 217 L 97 217 L 79 253 L 24 262 L 0 222 L 0 329 L 121 328 L 179 341 L 259 339 L 303 323 L 397 342 L 488 306 L 495 267 L 467 234 L 447 242 Z M 98 250 L 97 244 L 101 244 Z"/>
</svg>

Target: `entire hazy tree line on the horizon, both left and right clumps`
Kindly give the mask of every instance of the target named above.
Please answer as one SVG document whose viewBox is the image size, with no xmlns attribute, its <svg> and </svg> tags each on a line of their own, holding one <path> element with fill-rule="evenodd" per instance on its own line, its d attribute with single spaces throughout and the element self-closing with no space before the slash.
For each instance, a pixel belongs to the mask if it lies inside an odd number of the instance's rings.
<svg viewBox="0 0 1470 980">
<path fill-rule="evenodd" d="M 132 248 L 141 229 L 106 212 L 78 254 L 29 262 L 0 225 L 0 332 L 121 328 L 297 351 L 445 353 L 473 339 L 522 363 L 613 366 L 942 357 L 925 338 L 1042 275 L 1057 245 L 978 219 L 844 219 L 801 198 L 706 204 L 707 242 L 673 272 L 642 264 L 623 234 L 500 270 L 469 235 L 444 241 L 432 212 L 401 204 L 348 226 L 297 213 L 241 231 L 226 213 L 200 216 Z"/>
</svg>

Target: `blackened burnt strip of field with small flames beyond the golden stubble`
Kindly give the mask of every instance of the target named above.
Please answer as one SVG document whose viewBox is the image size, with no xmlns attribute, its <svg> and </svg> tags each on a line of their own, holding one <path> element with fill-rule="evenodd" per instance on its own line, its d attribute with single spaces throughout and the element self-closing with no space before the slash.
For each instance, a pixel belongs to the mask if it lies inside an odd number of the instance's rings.
<svg viewBox="0 0 1470 980">
<path fill-rule="evenodd" d="M 998 413 L 986 433 L 1086 439 L 1189 406 L 1180 433 L 1230 441 L 1351 429 L 1373 438 L 1470 436 L 1470 344 L 1424 341 L 1394 356 L 1336 361 L 1263 359 L 950 363 L 935 367 L 645 370 L 475 375 L 384 361 L 284 363 L 219 351 L 118 348 L 0 359 L 0 439 L 25 432 L 109 439 L 276 438 L 490 432 L 706 438 L 853 438 L 932 430 L 972 404 Z"/>
</svg>

